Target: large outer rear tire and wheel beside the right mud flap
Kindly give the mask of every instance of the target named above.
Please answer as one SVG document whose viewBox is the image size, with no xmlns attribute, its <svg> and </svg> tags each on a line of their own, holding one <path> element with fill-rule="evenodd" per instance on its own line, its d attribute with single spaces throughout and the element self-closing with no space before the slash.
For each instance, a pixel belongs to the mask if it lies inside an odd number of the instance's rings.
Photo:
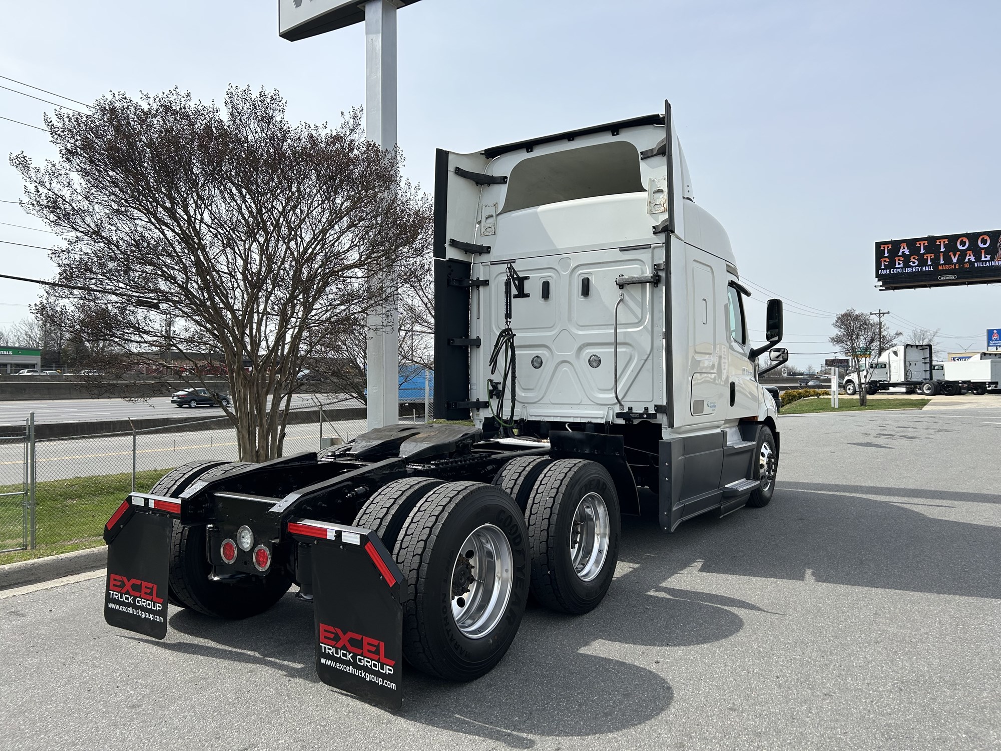
<svg viewBox="0 0 1001 751">
<path fill-rule="evenodd" d="M 512 497 L 484 483 L 438 486 L 413 510 L 394 557 L 406 578 L 406 661 L 450 681 L 489 672 L 529 595 L 529 535 Z"/>
</svg>

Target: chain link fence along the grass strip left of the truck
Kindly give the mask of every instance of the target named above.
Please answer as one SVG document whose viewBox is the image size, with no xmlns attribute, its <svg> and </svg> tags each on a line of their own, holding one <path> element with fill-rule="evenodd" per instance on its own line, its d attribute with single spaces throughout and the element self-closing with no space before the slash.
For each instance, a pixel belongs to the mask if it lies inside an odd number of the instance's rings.
<svg viewBox="0 0 1001 751">
<path fill-rule="evenodd" d="M 423 423 L 423 408 L 422 400 L 401 403 L 400 422 Z M 363 408 L 319 403 L 293 411 L 282 454 L 347 443 L 367 430 L 363 415 Z M 148 492 L 188 462 L 238 459 L 236 434 L 225 418 L 37 439 L 32 413 L 23 427 L 0 426 L 0 554 L 51 555 L 99 545 L 105 522 L 129 492 Z"/>
</svg>

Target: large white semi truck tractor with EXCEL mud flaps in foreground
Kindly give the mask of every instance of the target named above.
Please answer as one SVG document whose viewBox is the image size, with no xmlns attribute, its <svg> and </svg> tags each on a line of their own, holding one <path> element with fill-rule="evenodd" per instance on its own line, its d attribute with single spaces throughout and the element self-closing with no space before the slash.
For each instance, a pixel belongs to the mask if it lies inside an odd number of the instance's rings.
<svg viewBox="0 0 1001 751">
<path fill-rule="evenodd" d="M 104 614 L 162 639 L 168 606 L 237 619 L 294 585 L 319 678 L 388 708 L 402 671 L 489 671 L 530 593 L 583 614 L 621 518 L 672 532 L 775 492 L 782 303 L 749 336 L 737 259 L 665 111 L 439 150 L 435 417 L 321 453 L 197 462 L 108 520 Z M 771 362 L 758 370 L 758 358 Z M 305 637 L 305 635 L 303 635 Z"/>
</svg>

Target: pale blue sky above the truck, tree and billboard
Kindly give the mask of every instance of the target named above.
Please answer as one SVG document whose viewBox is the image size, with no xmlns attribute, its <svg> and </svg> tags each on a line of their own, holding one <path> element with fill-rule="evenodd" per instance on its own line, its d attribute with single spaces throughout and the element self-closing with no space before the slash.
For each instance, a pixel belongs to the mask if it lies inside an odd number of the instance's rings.
<svg viewBox="0 0 1001 751">
<path fill-rule="evenodd" d="M 82 101 L 263 85 L 292 119 L 336 121 L 363 102 L 362 29 L 285 42 L 276 5 L 6 3 L 0 75 Z M 999 29 L 996 2 L 423 0 L 399 12 L 406 173 L 430 190 L 437 146 L 474 150 L 670 98 L 696 199 L 727 227 L 741 274 L 806 306 L 787 306 L 786 343 L 816 354 L 794 362 L 822 364 L 827 313 L 847 307 L 888 308 L 905 332 L 941 328 L 943 351 L 979 347 L 1001 326 L 1001 288 L 878 292 L 873 243 L 1001 227 Z M 0 116 L 41 125 L 45 109 L 0 89 Z M 0 120 L 0 152 L 20 150 L 51 155 L 45 133 Z M 20 196 L 5 157 L 0 199 Z M 10 203 L 0 221 L 41 226 Z M 0 239 L 52 236 L 0 224 Z M 0 267 L 52 271 L 44 250 L 13 245 Z M 0 325 L 34 296 L 0 280 Z M 760 336 L 764 305 L 749 316 Z"/>
</svg>

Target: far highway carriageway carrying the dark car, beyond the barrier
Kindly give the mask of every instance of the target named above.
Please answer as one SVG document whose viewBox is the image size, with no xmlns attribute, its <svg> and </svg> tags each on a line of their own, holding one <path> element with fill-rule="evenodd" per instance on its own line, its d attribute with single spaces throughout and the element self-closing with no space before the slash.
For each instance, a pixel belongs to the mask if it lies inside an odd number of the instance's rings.
<svg viewBox="0 0 1001 751">
<path fill-rule="evenodd" d="M 292 397 L 292 409 L 316 406 L 316 399 L 324 405 L 332 404 L 331 395 L 302 394 Z M 338 407 L 351 407 L 356 401 L 338 401 Z M 34 411 L 36 423 L 77 423 L 126 420 L 132 418 L 187 418 L 188 420 L 222 415 L 217 407 L 198 407 L 186 410 L 170 404 L 170 397 L 157 397 L 147 402 L 127 402 L 122 399 L 64 399 L 35 402 L 0 402 L 0 426 L 24 425 L 28 413 Z"/>
</svg>

